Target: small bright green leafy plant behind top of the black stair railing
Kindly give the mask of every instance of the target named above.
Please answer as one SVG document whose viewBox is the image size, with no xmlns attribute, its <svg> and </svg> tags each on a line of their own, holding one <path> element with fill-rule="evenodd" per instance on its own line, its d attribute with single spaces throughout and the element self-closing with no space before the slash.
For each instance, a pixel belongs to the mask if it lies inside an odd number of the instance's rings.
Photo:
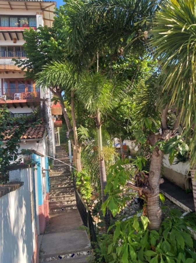
<svg viewBox="0 0 196 263">
<path fill-rule="evenodd" d="M 76 188 L 79 189 L 82 198 L 89 202 L 91 198 L 92 187 L 90 183 L 90 176 L 82 169 L 81 172 L 76 173 Z"/>
</svg>

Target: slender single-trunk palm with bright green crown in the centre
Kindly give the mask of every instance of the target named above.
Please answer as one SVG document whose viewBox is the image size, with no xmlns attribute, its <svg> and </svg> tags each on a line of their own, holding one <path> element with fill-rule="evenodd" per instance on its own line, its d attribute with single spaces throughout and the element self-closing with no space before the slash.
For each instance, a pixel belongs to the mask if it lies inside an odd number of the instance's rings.
<svg viewBox="0 0 196 263">
<path fill-rule="evenodd" d="M 90 117 L 95 120 L 98 132 L 99 170 L 102 203 L 107 196 L 104 193 L 106 181 L 106 169 L 103 155 L 102 124 L 103 115 L 106 115 L 114 107 L 115 103 L 122 97 L 123 83 L 119 85 L 100 73 L 87 73 L 77 87 L 77 96 L 89 112 Z M 105 219 L 108 224 L 108 219 Z"/>
</svg>

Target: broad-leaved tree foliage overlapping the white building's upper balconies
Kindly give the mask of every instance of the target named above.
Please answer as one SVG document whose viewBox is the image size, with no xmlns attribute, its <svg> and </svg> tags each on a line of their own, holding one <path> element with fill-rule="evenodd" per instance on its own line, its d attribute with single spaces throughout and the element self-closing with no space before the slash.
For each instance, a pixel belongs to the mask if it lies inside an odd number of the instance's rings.
<svg viewBox="0 0 196 263">
<path fill-rule="evenodd" d="M 38 30 L 24 30 L 24 51 L 27 59 L 14 59 L 16 65 L 26 69 L 26 77 L 34 79 L 35 74 L 42 70 L 43 65 L 53 59 L 61 60 L 64 43 L 58 34 L 58 27 L 39 26 Z"/>
</svg>

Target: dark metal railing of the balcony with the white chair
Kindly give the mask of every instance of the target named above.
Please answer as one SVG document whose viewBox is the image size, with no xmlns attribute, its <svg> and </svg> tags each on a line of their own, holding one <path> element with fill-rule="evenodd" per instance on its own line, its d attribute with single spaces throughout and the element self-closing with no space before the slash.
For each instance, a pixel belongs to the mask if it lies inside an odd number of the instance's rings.
<svg viewBox="0 0 196 263">
<path fill-rule="evenodd" d="M 1 92 L 0 100 L 33 100 L 40 98 L 40 88 L 10 88 Z"/>
</svg>

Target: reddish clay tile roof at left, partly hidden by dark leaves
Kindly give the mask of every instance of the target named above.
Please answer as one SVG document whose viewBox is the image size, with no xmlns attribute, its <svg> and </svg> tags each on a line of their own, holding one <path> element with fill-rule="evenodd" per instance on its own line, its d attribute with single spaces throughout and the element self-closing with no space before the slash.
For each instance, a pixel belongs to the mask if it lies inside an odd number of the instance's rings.
<svg viewBox="0 0 196 263">
<path fill-rule="evenodd" d="M 4 141 L 9 140 L 12 137 L 12 131 L 14 131 L 17 127 L 13 127 L 4 132 Z M 35 126 L 30 126 L 26 131 L 24 131 L 23 135 L 20 137 L 21 140 L 28 139 L 41 139 L 45 133 L 45 126 L 43 124 L 37 124 Z"/>
</svg>

